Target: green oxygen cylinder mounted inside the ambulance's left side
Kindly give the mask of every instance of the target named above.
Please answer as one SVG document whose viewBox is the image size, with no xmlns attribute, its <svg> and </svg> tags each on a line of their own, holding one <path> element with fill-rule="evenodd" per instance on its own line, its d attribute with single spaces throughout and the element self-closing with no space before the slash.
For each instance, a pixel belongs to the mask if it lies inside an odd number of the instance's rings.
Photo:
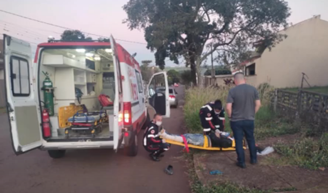
<svg viewBox="0 0 328 193">
<path fill-rule="evenodd" d="M 54 113 L 54 103 L 53 103 L 53 84 L 50 80 L 48 72 L 43 72 L 43 74 L 46 76 L 45 80 L 43 81 L 43 94 L 44 94 L 44 102 L 45 102 L 45 108 L 48 109 L 49 116 L 53 116 Z"/>
</svg>

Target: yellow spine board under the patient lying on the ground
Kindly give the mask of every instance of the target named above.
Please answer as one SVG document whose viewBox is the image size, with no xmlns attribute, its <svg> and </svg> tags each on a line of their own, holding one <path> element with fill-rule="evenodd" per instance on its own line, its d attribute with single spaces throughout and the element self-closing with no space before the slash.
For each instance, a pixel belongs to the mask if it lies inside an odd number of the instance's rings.
<svg viewBox="0 0 328 193">
<path fill-rule="evenodd" d="M 174 145 L 184 146 L 184 147 L 186 147 L 187 152 L 189 152 L 189 148 L 204 149 L 204 150 L 209 150 L 209 151 L 236 151 L 235 140 L 232 140 L 232 146 L 228 147 L 228 148 L 212 147 L 211 146 L 211 139 L 207 135 L 204 135 L 204 145 L 203 146 L 188 144 L 185 138 L 183 138 L 183 140 L 185 141 L 184 143 L 180 143 L 180 142 L 169 140 L 169 139 L 165 139 L 165 142 L 170 143 L 170 144 L 174 144 Z M 243 141 L 243 149 L 246 149 L 244 141 Z"/>
</svg>

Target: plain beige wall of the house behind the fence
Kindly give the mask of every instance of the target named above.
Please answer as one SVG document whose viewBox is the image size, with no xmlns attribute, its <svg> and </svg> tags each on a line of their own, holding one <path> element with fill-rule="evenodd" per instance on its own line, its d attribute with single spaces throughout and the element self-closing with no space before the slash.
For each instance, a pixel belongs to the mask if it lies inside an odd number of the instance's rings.
<svg viewBox="0 0 328 193">
<path fill-rule="evenodd" d="M 283 33 L 288 37 L 255 60 L 257 84 L 300 87 L 304 72 L 311 86 L 328 85 L 328 22 L 317 16 Z"/>
</svg>

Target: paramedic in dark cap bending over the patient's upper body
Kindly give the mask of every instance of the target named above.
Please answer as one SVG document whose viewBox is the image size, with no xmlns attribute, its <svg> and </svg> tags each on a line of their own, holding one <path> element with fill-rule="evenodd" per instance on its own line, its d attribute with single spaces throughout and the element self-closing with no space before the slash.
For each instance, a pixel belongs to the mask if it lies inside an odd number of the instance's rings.
<svg viewBox="0 0 328 193">
<path fill-rule="evenodd" d="M 203 105 L 199 111 L 203 134 L 211 138 L 214 146 L 220 146 L 220 133 L 224 131 L 224 109 L 222 102 L 216 100 Z"/>
</svg>

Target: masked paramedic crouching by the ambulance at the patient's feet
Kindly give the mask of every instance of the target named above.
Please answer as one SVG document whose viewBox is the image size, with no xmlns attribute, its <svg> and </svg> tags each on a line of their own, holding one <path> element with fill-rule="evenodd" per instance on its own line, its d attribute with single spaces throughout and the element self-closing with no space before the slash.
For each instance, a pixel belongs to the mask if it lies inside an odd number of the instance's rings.
<svg viewBox="0 0 328 193">
<path fill-rule="evenodd" d="M 153 121 L 148 125 L 144 134 L 144 147 L 150 152 L 149 156 L 154 161 L 159 161 L 158 157 L 163 157 L 163 152 L 168 151 L 170 144 L 159 138 L 159 126 L 162 124 L 162 116 L 154 115 Z"/>
</svg>

